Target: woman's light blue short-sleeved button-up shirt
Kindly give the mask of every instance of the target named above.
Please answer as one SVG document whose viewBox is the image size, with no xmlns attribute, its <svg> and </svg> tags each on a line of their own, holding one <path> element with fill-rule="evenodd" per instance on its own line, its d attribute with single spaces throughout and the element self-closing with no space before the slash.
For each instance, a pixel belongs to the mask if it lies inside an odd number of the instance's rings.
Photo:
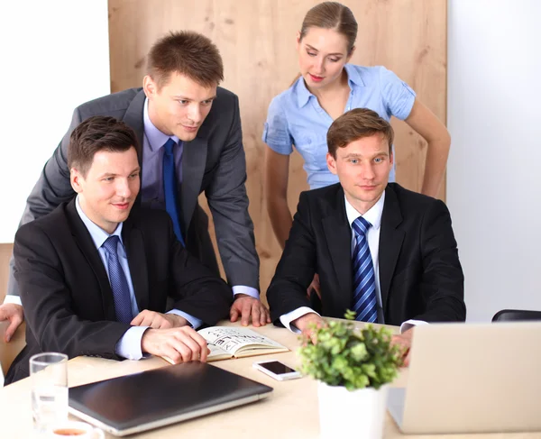
<svg viewBox="0 0 541 439">
<path fill-rule="evenodd" d="M 391 116 L 404 120 L 415 102 L 415 92 L 392 71 L 384 67 L 362 67 L 346 64 L 350 95 L 344 112 L 353 108 L 370 108 L 386 121 Z M 279 154 L 293 152 L 292 145 L 304 159 L 308 184 L 311 189 L 338 183 L 326 165 L 326 133 L 333 119 L 317 102 L 305 84 L 297 82 L 269 105 L 262 140 Z M 396 160 L 395 160 L 396 162 Z M 395 169 L 389 181 L 395 180 Z"/>
</svg>

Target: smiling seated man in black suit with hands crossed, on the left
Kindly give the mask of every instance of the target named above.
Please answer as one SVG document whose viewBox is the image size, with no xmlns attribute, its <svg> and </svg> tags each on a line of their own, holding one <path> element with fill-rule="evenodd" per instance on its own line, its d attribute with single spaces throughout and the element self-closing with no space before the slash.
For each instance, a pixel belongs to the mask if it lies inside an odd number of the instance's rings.
<svg viewBox="0 0 541 439">
<path fill-rule="evenodd" d="M 78 196 L 15 236 L 27 344 L 6 383 L 28 376 L 29 358 L 46 351 L 206 361 L 206 341 L 194 328 L 227 316 L 233 294 L 177 241 L 166 212 L 131 212 L 138 147 L 132 128 L 113 117 L 91 117 L 71 134 Z M 163 314 L 168 296 L 174 306 Z"/>
</svg>

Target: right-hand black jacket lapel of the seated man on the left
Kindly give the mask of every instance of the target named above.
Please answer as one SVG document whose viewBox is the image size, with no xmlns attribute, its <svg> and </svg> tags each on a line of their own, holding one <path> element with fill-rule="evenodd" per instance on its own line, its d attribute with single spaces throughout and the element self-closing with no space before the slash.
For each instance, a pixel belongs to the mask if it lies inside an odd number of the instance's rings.
<svg viewBox="0 0 541 439">
<path fill-rule="evenodd" d="M 122 240 L 132 275 L 133 293 L 141 312 L 149 307 L 149 278 L 142 232 L 133 224 L 131 217 L 123 224 Z"/>
</svg>

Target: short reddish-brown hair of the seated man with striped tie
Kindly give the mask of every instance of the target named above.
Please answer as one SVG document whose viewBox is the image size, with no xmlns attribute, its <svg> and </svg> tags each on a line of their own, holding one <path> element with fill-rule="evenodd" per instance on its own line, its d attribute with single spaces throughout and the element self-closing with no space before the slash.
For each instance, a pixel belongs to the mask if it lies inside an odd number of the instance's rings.
<svg viewBox="0 0 541 439">
<path fill-rule="evenodd" d="M 336 150 L 351 142 L 381 133 L 389 142 L 389 155 L 392 152 L 394 131 L 390 123 L 368 108 L 355 108 L 342 114 L 331 124 L 327 132 L 329 154 L 336 158 Z"/>
</svg>

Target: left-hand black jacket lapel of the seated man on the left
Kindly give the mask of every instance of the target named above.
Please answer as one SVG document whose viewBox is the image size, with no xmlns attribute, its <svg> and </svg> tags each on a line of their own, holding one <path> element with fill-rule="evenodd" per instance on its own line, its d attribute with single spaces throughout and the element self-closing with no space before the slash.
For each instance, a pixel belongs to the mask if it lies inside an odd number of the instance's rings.
<svg viewBox="0 0 541 439">
<path fill-rule="evenodd" d="M 76 198 L 73 198 L 68 206 L 66 206 L 66 214 L 69 219 L 69 224 L 71 225 L 71 234 L 73 235 L 75 242 L 77 242 L 78 248 L 83 253 L 83 256 L 87 259 L 88 265 L 96 275 L 96 279 L 101 289 L 105 320 L 115 321 L 115 301 L 113 299 L 111 284 L 109 283 L 104 263 L 97 252 L 96 245 L 94 244 L 94 241 L 92 241 L 87 226 L 78 215 L 75 207 L 75 200 Z"/>
</svg>

